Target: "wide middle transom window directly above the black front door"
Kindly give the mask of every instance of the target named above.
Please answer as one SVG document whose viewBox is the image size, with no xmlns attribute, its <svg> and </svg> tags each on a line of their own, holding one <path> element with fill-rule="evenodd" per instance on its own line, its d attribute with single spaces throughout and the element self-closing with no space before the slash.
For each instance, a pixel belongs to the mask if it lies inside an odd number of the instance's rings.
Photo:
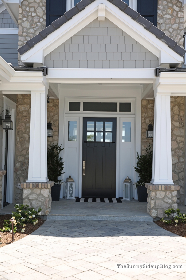
<svg viewBox="0 0 186 280">
<path fill-rule="evenodd" d="M 117 112 L 117 102 L 83 102 L 86 112 Z"/>
</svg>

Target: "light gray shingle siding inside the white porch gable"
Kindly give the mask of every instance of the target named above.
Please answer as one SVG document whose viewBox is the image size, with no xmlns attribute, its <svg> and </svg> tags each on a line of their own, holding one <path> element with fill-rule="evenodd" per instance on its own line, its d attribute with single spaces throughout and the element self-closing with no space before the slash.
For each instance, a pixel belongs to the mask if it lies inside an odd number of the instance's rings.
<svg viewBox="0 0 186 280">
<path fill-rule="evenodd" d="M 45 57 L 49 68 L 156 68 L 158 57 L 105 18 L 98 18 Z"/>
</svg>

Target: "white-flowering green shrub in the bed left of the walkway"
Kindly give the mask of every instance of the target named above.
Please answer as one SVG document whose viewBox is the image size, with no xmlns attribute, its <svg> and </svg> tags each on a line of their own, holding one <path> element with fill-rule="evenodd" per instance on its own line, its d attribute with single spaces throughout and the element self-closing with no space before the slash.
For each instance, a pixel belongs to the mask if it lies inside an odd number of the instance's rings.
<svg viewBox="0 0 186 280">
<path fill-rule="evenodd" d="M 12 213 L 14 218 L 13 222 L 13 232 L 16 233 L 17 227 L 22 226 L 21 232 L 25 231 L 25 226 L 27 223 L 33 223 L 33 225 L 38 223 L 37 217 L 41 215 L 41 208 L 38 208 L 38 211 L 35 211 L 33 208 L 29 208 L 28 205 L 15 205 L 16 212 Z M 4 220 L 3 228 L 0 228 L 0 231 L 12 231 L 12 225 L 9 220 Z"/>
</svg>

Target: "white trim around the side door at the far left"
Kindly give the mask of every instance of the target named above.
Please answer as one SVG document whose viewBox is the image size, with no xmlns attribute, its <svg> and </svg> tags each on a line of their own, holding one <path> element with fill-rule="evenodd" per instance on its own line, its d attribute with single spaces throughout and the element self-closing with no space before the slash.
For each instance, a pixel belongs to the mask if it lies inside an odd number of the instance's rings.
<svg viewBox="0 0 186 280">
<path fill-rule="evenodd" d="M 15 160 L 15 122 L 16 122 L 16 103 L 3 96 L 3 110 L 9 110 L 11 120 L 13 121 L 13 130 L 9 130 L 8 134 L 8 159 L 7 159 L 7 193 L 6 201 L 13 203 L 13 187 L 14 187 L 14 160 Z M 3 118 L 5 111 L 3 111 Z M 3 152 L 2 152 L 2 169 L 4 168 L 4 148 L 5 148 L 5 130 L 3 130 Z M 2 194 L 4 193 L 4 176 L 2 185 Z M 2 198 L 2 209 L 3 209 Z"/>
</svg>

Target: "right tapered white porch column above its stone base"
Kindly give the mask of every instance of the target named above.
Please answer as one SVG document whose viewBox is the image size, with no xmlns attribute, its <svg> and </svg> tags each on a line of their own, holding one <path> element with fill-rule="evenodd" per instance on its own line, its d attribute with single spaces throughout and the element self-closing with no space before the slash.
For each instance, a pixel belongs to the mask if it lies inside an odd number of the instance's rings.
<svg viewBox="0 0 186 280">
<path fill-rule="evenodd" d="M 154 93 L 153 184 L 173 185 L 170 93 Z"/>
</svg>

